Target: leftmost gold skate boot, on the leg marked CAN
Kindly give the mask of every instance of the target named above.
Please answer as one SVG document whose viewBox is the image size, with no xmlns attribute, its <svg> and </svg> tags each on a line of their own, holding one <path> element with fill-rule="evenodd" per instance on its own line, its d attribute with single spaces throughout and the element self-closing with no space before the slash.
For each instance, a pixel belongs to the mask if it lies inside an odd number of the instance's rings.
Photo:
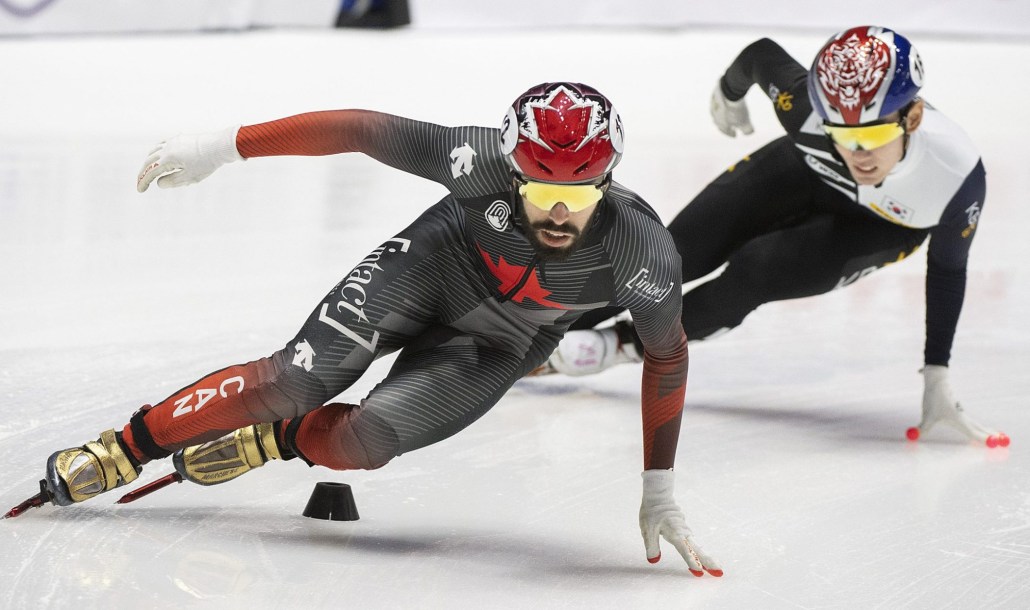
<svg viewBox="0 0 1030 610">
<path fill-rule="evenodd" d="M 132 482 L 141 471 L 117 434 L 107 430 L 96 441 L 50 455 L 43 484 L 50 502 L 68 506 Z"/>
</svg>

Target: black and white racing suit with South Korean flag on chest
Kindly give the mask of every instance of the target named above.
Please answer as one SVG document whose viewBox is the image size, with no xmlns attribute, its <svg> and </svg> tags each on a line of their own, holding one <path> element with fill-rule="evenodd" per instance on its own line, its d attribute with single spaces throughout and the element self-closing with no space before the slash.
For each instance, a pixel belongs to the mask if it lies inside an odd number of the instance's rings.
<svg viewBox="0 0 1030 610">
<path fill-rule="evenodd" d="M 881 184 L 855 182 L 823 132 L 808 70 L 759 40 L 721 79 L 729 100 L 757 84 L 787 135 L 745 157 L 707 185 L 668 225 L 688 282 L 691 340 L 740 325 L 759 305 L 827 293 L 901 261 L 929 236 L 925 363 L 947 365 L 965 295 L 966 261 L 984 207 L 984 166 L 969 137 L 926 106 L 904 158 Z M 616 310 L 593 312 L 590 328 Z"/>
</svg>

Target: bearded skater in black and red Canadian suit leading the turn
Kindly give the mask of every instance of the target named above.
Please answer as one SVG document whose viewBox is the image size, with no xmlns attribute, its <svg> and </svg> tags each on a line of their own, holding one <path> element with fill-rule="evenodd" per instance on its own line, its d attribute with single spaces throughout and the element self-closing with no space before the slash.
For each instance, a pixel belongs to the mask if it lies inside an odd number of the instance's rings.
<svg viewBox="0 0 1030 610">
<path fill-rule="evenodd" d="M 193 183 L 242 159 L 364 152 L 449 195 L 346 273 L 281 349 L 215 371 L 124 428 L 54 453 L 46 499 L 82 502 L 170 455 L 179 476 L 201 484 L 279 459 L 380 468 L 470 426 L 543 364 L 581 315 L 618 306 L 634 316 L 644 351 L 647 556 L 658 560 L 664 537 L 690 572 L 720 576 L 674 499 L 687 380 L 673 290 L 680 259 L 655 212 L 612 179 L 622 149 L 611 102 L 573 82 L 525 92 L 501 129 L 332 110 L 162 142 L 140 172 L 140 192 L 153 181 Z M 332 402 L 394 351 L 389 373 L 359 404 Z"/>
</svg>

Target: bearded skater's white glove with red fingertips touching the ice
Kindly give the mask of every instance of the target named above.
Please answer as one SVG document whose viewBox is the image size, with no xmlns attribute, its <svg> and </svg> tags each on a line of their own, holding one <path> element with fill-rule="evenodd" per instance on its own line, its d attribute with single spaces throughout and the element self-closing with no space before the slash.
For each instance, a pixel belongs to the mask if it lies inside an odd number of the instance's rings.
<svg viewBox="0 0 1030 610">
<path fill-rule="evenodd" d="M 694 576 L 722 576 L 722 569 L 694 542 L 693 533 L 687 527 L 683 511 L 673 498 L 676 475 L 672 470 L 645 470 L 644 499 L 641 501 L 641 536 L 647 561 L 652 564 L 661 558 L 658 535 L 680 551 L 687 562 L 687 569 Z"/>
</svg>

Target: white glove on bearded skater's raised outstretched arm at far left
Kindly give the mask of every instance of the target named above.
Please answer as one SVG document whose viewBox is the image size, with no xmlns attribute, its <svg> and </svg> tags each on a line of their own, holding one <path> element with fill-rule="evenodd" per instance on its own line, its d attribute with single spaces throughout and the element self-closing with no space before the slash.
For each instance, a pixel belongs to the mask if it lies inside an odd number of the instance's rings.
<svg viewBox="0 0 1030 610">
<path fill-rule="evenodd" d="M 199 182 L 227 163 L 242 161 L 236 149 L 239 125 L 217 132 L 170 138 L 150 150 L 136 178 L 140 193 L 157 178 L 162 189 Z"/>
</svg>

